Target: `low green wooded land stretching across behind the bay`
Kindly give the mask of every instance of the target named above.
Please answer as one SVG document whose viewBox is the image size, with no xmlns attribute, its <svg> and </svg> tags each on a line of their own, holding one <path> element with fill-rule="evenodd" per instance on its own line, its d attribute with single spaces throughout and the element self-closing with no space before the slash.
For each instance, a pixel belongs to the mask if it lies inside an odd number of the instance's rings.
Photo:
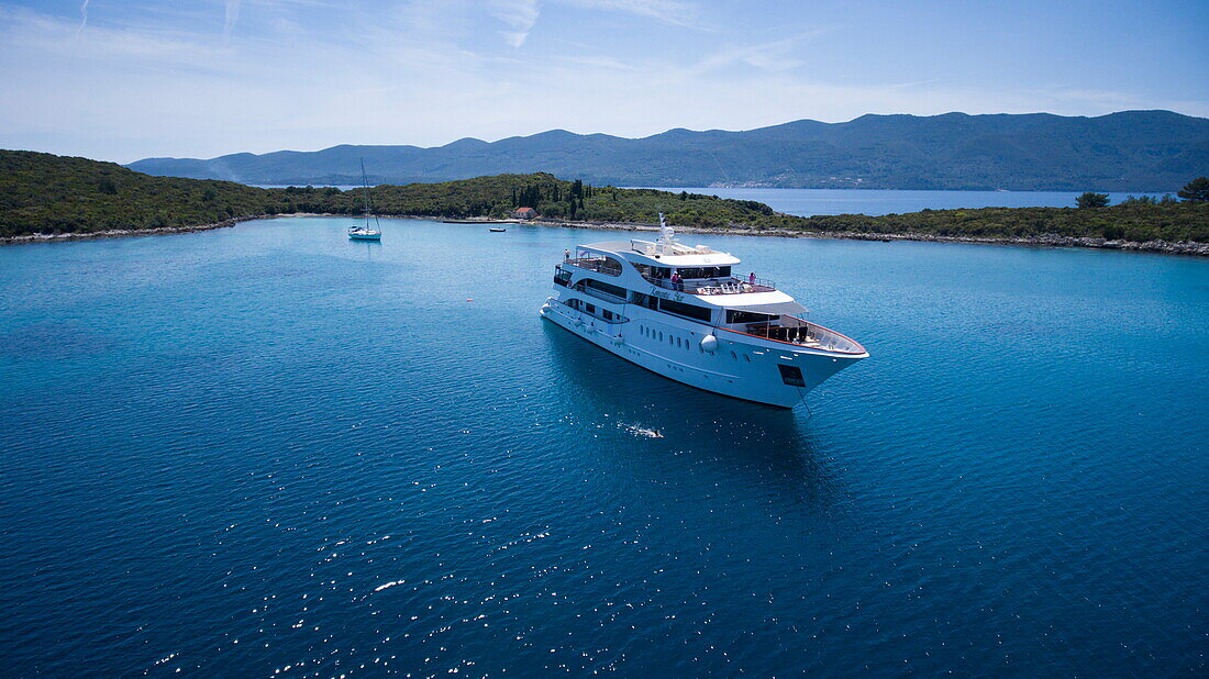
<svg viewBox="0 0 1209 679">
<path fill-rule="evenodd" d="M 546 224 L 671 224 L 704 231 L 855 238 L 970 239 L 1121 246 L 1209 254 L 1209 186 L 1190 182 L 1176 199 L 1081 208 L 982 208 L 866 216 L 800 217 L 754 201 L 688 192 L 591 186 L 550 174 L 503 174 L 372 188 L 389 216 L 507 217 L 532 207 Z M 1198 188 L 1199 187 L 1199 188 Z M 1087 196 L 1099 196 L 1088 193 Z M 1084 196 L 1086 197 L 1086 196 Z M 1081 204 L 1083 201 L 1081 199 Z M 187 231 L 283 214 L 353 215 L 358 191 L 258 188 L 218 180 L 150 176 L 115 163 L 31 151 L 0 151 L 0 238 Z"/>
</svg>

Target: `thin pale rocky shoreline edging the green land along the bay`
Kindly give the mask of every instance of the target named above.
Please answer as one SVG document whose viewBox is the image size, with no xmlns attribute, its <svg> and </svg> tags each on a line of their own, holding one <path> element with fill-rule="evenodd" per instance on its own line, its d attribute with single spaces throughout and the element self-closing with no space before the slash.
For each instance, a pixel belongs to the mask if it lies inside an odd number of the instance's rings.
<svg viewBox="0 0 1209 679">
<path fill-rule="evenodd" d="M 230 228 L 239 222 L 255 221 L 261 219 L 278 217 L 348 217 L 343 214 L 330 213 L 291 213 L 291 214 L 262 214 L 241 217 L 231 217 L 214 224 L 197 226 L 167 226 L 163 228 L 144 230 L 110 230 L 92 233 L 30 233 L 25 236 L 8 236 L 0 238 L 0 245 L 22 245 L 27 243 L 68 243 L 73 240 L 91 240 L 99 238 L 127 238 L 134 236 L 169 236 L 174 233 L 192 233 L 195 231 L 212 231 L 215 228 Z M 452 217 L 439 217 L 429 215 L 375 215 L 381 219 L 426 219 L 442 221 Z M 526 226 L 544 226 L 550 228 L 588 228 L 596 231 L 635 231 L 658 232 L 659 226 L 644 222 L 595 222 L 595 221 L 568 221 L 537 219 L 531 221 L 501 222 L 488 219 L 465 219 L 458 224 L 520 224 Z M 1185 242 L 1168 243 L 1167 240 L 1147 240 L 1139 243 L 1134 240 L 1107 240 L 1105 238 L 1058 236 L 1043 233 L 1028 238 L 989 238 L 972 236 L 933 236 L 929 233 L 864 233 L 864 232 L 820 232 L 820 231 L 791 231 L 776 228 L 751 228 L 742 226 L 729 226 L 724 228 L 701 227 L 677 227 L 679 233 L 719 234 L 719 236 L 773 236 L 780 238 L 821 238 L 834 240 L 918 240 L 921 243 L 971 243 L 980 245 L 1028 245 L 1039 248 L 1088 248 L 1098 250 L 1123 250 L 1130 253 L 1158 253 L 1164 255 L 1190 255 L 1209 256 L 1209 243 Z"/>
</svg>

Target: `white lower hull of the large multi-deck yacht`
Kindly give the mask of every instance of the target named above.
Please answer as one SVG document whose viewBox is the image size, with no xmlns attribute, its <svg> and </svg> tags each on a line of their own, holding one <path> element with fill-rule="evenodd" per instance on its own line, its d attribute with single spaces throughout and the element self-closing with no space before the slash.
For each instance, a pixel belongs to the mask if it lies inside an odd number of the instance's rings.
<svg viewBox="0 0 1209 679">
<path fill-rule="evenodd" d="M 635 314 L 638 309 L 630 307 L 627 311 Z M 727 331 L 716 333 L 713 350 L 706 350 L 701 341 L 711 335 L 711 329 L 672 323 L 655 312 L 630 318 L 626 323 L 607 323 L 553 297 L 542 306 L 539 314 L 611 354 L 669 379 L 781 408 L 798 405 L 828 377 L 868 355 L 834 355 L 791 344 L 779 347 L 767 340 Z"/>
</svg>

